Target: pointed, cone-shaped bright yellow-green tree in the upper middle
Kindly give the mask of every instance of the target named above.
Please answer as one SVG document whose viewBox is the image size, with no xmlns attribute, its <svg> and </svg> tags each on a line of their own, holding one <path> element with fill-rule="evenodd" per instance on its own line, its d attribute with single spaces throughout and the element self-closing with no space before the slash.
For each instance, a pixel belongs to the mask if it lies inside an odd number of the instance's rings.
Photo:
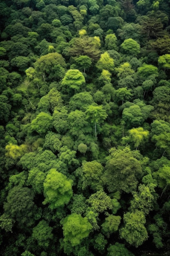
<svg viewBox="0 0 170 256">
<path fill-rule="evenodd" d="M 114 68 L 114 61 L 113 58 L 110 58 L 108 52 L 104 52 L 104 54 L 101 54 L 101 57 L 99 58 L 99 61 L 97 61 L 96 67 L 99 70 L 108 70 L 113 71 Z"/>
</svg>

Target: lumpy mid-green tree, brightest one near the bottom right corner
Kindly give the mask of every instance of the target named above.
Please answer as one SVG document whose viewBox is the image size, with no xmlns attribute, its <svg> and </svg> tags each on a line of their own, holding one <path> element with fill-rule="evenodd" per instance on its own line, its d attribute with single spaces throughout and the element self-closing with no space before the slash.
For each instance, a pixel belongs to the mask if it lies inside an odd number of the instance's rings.
<svg viewBox="0 0 170 256">
<path fill-rule="evenodd" d="M 136 210 L 134 213 L 124 214 L 125 226 L 120 229 L 120 236 L 124 238 L 126 242 L 135 247 L 139 247 L 147 240 L 148 233 L 146 227 L 145 215 L 142 211 Z"/>
</svg>

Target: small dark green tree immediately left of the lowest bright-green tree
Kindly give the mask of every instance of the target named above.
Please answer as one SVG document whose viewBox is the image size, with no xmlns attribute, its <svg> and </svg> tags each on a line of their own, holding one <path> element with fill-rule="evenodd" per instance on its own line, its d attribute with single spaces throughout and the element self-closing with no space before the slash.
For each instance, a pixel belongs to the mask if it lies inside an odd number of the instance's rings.
<svg viewBox="0 0 170 256">
<path fill-rule="evenodd" d="M 37 226 L 33 228 L 32 237 L 37 240 L 38 245 L 42 248 L 49 247 L 50 240 L 53 239 L 52 227 L 49 227 L 48 222 L 40 220 Z"/>
</svg>

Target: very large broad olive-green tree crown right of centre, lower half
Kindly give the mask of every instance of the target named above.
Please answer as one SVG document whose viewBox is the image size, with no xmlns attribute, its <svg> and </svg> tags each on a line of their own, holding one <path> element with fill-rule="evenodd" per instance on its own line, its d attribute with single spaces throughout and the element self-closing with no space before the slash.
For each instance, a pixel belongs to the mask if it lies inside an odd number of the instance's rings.
<svg viewBox="0 0 170 256">
<path fill-rule="evenodd" d="M 123 150 L 111 148 L 109 158 L 104 174 L 108 191 L 118 190 L 126 193 L 135 191 L 138 179 L 142 174 L 142 168 L 140 161 L 134 155 L 134 151 L 128 147 Z"/>
</svg>

